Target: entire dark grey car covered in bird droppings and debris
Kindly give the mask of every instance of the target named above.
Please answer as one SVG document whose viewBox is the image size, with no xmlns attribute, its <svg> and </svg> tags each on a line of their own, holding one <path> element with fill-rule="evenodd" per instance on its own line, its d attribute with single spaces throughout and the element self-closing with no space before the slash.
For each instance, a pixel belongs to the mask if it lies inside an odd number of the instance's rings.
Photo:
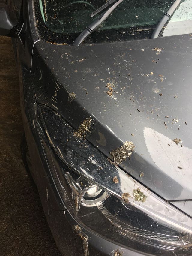
<svg viewBox="0 0 192 256">
<path fill-rule="evenodd" d="M 22 155 L 63 255 L 192 255 L 192 1 L 7 0 Z"/>
</svg>

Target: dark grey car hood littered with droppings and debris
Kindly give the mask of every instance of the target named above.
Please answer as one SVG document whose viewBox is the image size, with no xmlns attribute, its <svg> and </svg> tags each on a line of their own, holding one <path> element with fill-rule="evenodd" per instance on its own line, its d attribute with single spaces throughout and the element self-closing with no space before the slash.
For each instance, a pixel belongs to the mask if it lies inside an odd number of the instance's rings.
<svg viewBox="0 0 192 256">
<path fill-rule="evenodd" d="M 189 35 L 80 47 L 39 41 L 37 102 L 75 129 L 91 116 L 86 139 L 107 157 L 131 140 L 135 151 L 121 167 L 166 200 L 190 200 L 191 43 Z"/>
</svg>

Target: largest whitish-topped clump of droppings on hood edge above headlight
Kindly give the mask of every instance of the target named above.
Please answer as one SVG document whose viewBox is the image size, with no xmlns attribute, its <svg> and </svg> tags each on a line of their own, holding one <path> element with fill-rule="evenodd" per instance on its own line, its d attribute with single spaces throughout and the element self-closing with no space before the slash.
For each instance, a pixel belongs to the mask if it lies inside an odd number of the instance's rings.
<svg viewBox="0 0 192 256">
<path fill-rule="evenodd" d="M 121 147 L 114 149 L 110 154 L 113 156 L 114 165 L 119 165 L 122 161 L 125 161 L 128 157 L 131 157 L 134 151 L 134 143 L 132 141 L 125 141 Z"/>
</svg>

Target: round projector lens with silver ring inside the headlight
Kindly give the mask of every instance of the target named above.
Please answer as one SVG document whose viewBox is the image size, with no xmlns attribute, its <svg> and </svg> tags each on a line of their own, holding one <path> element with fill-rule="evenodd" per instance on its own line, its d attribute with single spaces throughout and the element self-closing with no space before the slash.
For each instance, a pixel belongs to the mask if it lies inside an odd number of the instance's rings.
<svg viewBox="0 0 192 256">
<path fill-rule="evenodd" d="M 109 193 L 99 188 L 97 185 L 90 184 L 79 194 L 80 203 L 87 207 L 97 206 L 109 197 Z"/>
</svg>

